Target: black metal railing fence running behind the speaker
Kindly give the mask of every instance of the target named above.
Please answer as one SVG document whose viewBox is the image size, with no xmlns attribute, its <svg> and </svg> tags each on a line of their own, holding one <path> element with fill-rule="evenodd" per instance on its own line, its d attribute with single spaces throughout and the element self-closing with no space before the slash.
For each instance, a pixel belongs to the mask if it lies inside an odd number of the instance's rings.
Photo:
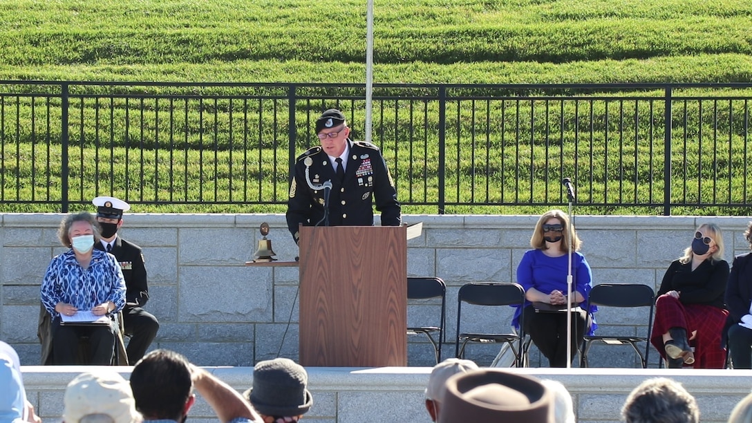
<svg viewBox="0 0 752 423">
<path fill-rule="evenodd" d="M 0 202 L 284 205 L 314 120 L 363 138 L 361 84 L 0 82 Z M 566 205 L 743 213 L 752 84 L 374 84 L 400 201 L 438 213 Z"/>
</svg>

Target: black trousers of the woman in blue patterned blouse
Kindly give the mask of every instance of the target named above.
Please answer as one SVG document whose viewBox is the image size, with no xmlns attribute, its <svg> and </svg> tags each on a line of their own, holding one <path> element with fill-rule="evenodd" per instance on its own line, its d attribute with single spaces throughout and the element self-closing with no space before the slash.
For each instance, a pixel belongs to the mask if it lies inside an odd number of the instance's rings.
<svg viewBox="0 0 752 423">
<path fill-rule="evenodd" d="M 61 325 L 60 316 L 52 321 L 52 353 L 56 365 L 93 364 L 109 366 L 115 351 L 116 327 L 109 325 Z M 88 363 L 82 363 L 79 355 L 83 337 L 88 337 Z"/>
</svg>

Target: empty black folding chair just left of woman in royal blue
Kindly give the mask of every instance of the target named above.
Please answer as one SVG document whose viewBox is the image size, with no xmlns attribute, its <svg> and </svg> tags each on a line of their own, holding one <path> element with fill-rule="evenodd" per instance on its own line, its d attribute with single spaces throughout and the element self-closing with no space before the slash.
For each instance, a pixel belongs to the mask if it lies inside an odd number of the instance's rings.
<svg viewBox="0 0 752 423">
<path fill-rule="evenodd" d="M 523 306 L 525 303 L 525 290 L 522 286 L 514 283 L 504 284 L 479 284 L 470 283 L 459 288 L 457 298 L 457 340 L 454 347 L 456 358 L 465 356 L 465 345 L 468 342 L 481 343 L 506 343 L 514 352 L 514 364 L 521 367 L 521 352 L 523 321 L 520 316 L 520 333 L 463 333 L 460 331 L 462 322 L 462 303 L 475 306 Z"/>
</svg>

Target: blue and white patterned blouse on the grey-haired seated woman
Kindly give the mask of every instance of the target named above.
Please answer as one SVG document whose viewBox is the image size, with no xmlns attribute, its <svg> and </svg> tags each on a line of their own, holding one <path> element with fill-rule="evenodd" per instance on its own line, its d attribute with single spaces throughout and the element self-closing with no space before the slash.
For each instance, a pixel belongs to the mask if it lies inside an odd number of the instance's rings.
<svg viewBox="0 0 752 423">
<path fill-rule="evenodd" d="M 52 318 L 59 313 L 55 305 L 68 303 L 80 310 L 91 310 L 112 301 L 114 312 L 126 305 L 126 281 L 115 256 L 105 251 L 92 251 L 88 269 L 83 269 L 73 250 L 53 257 L 41 286 L 41 300 Z"/>
</svg>

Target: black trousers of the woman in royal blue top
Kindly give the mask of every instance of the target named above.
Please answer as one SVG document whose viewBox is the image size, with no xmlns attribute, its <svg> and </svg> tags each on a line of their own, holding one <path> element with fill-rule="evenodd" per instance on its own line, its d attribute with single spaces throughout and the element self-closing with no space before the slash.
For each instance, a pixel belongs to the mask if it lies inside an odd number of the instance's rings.
<svg viewBox="0 0 752 423">
<path fill-rule="evenodd" d="M 572 312 L 572 355 L 566 356 L 566 312 L 535 312 L 533 306 L 523 310 L 523 329 L 548 359 L 550 367 L 566 367 L 575 358 L 588 324 L 587 312 Z"/>
</svg>

